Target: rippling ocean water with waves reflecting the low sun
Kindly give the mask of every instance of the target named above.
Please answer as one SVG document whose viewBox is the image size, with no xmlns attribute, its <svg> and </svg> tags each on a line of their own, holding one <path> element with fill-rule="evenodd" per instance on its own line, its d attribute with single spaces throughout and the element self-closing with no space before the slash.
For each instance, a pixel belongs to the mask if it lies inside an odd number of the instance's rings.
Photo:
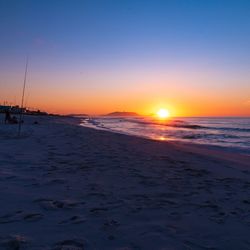
<svg viewBox="0 0 250 250">
<path fill-rule="evenodd" d="M 181 117 L 159 120 L 142 116 L 98 116 L 82 118 L 82 125 L 154 140 L 220 146 L 250 154 L 250 118 Z"/>
</svg>

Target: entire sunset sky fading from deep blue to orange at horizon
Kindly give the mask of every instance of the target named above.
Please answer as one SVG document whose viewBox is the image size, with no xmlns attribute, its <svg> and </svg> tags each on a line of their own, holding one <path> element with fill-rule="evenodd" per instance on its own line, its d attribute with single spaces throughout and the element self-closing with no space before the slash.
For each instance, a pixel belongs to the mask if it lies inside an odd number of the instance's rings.
<svg viewBox="0 0 250 250">
<path fill-rule="evenodd" d="M 0 104 L 250 116 L 248 0 L 0 0 Z"/>
</svg>

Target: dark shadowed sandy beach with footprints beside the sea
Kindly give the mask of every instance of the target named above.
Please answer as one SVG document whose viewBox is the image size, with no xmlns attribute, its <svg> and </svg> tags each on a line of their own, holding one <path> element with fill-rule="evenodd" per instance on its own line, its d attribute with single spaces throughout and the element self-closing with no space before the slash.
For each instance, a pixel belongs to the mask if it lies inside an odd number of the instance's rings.
<svg viewBox="0 0 250 250">
<path fill-rule="evenodd" d="M 0 249 L 250 249 L 249 156 L 0 118 Z"/>
</svg>

